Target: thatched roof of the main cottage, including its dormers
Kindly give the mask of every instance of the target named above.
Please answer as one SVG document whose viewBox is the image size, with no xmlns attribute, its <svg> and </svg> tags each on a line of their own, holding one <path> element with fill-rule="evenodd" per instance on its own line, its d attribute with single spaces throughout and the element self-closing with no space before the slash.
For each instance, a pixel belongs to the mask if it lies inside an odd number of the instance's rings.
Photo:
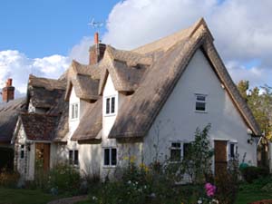
<svg viewBox="0 0 272 204">
<path fill-rule="evenodd" d="M 73 62 L 71 72 L 75 74 L 72 74 L 70 82 L 73 86 L 88 92 L 89 99 L 95 101 L 98 98 L 93 97 L 96 91 L 95 86 L 91 84 L 99 81 L 98 94 L 102 95 L 107 76 L 111 74 L 114 88 L 130 94 L 124 97 L 119 107 L 109 138 L 144 137 L 198 49 L 201 49 L 209 59 L 220 83 L 226 87 L 228 95 L 248 127 L 255 135 L 259 135 L 257 121 L 222 63 L 213 44 L 213 37 L 203 19 L 188 29 L 132 51 L 119 51 L 107 45 L 100 63 L 90 66 Z M 83 87 L 80 79 L 77 81 L 73 79 L 78 75 L 83 75 L 88 85 Z M 92 87 L 91 90 L 87 91 L 88 87 Z M 77 87 L 74 89 L 75 92 L 80 92 L 76 91 Z M 66 99 L 69 98 L 69 94 L 67 89 Z M 94 102 L 83 114 L 78 130 L 73 134 L 74 141 L 99 138 L 98 134 L 102 129 L 102 105 L 100 106 L 99 101 Z"/>
</svg>

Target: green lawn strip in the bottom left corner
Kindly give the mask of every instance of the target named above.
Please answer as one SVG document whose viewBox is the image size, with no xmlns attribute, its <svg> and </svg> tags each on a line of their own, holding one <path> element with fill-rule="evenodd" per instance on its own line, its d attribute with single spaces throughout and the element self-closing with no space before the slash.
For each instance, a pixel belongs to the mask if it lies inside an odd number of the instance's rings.
<svg viewBox="0 0 272 204">
<path fill-rule="evenodd" d="M 59 198 L 41 190 L 0 188 L 0 204 L 45 204 Z"/>
</svg>

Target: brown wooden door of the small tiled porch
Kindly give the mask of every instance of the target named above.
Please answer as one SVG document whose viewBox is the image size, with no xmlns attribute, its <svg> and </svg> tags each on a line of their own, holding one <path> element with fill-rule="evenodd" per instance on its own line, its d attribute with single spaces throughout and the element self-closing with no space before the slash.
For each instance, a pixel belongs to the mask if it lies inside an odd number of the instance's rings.
<svg viewBox="0 0 272 204">
<path fill-rule="evenodd" d="M 37 163 L 42 163 L 44 170 L 50 168 L 50 144 L 35 143 L 35 160 Z"/>
</svg>

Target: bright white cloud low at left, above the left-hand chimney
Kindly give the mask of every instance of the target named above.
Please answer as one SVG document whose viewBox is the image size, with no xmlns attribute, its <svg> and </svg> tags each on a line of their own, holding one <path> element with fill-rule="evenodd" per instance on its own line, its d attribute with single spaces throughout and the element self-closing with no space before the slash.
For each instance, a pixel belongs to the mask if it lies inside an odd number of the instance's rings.
<svg viewBox="0 0 272 204">
<path fill-rule="evenodd" d="M 30 59 L 19 51 L 0 51 L 0 87 L 5 86 L 7 78 L 13 78 L 15 97 L 21 96 L 26 92 L 30 73 L 56 79 L 68 68 L 69 63 L 68 57 L 58 54 Z"/>
</svg>

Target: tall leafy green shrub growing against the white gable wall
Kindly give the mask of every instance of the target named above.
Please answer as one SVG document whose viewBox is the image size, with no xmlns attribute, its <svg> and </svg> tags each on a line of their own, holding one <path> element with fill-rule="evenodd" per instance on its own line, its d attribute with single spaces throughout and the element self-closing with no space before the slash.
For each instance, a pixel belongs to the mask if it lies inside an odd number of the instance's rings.
<svg viewBox="0 0 272 204">
<path fill-rule="evenodd" d="M 191 142 L 188 156 L 182 160 L 182 171 L 189 175 L 195 184 L 204 183 L 211 174 L 211 163 L 214 151 L 210 148 L 208 124 L 202 131 L 197 129 L 195 141 Z"/>
</svg>

